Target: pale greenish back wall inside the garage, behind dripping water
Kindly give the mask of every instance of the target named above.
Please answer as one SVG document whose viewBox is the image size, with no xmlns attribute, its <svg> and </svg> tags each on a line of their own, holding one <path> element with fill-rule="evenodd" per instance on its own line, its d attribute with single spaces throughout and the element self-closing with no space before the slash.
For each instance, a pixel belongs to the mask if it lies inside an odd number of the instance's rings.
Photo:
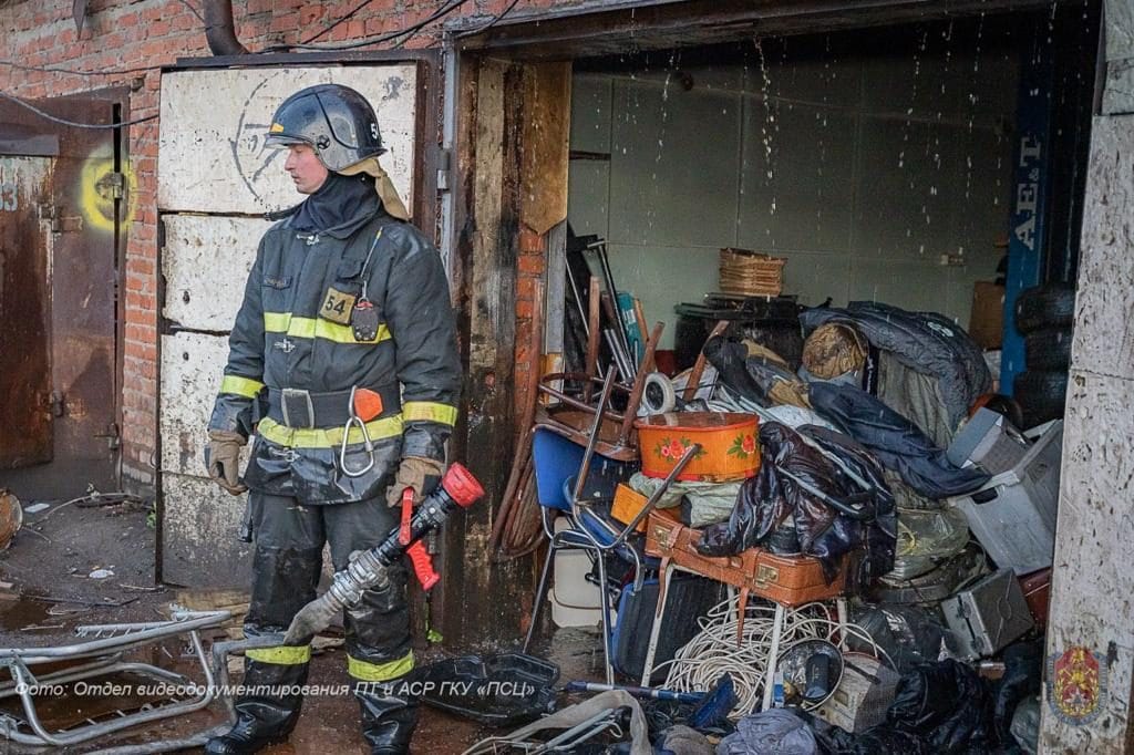
<svg viewBox="0 0 1134 755">
<path fill-rule="evenodd" d="M 960 46 L 960 45 L 958 45 Z M 1017 66 L 1002 51 L 880 51 L 676 76 L 576 74 L 569 221 L 665 320 L 717 290 L 723 246 L 788 258 L 804 304 L 877 299 L 967 325 L 1007 239 Z M 767 80 L 765 80 L 767 74 Z M 768 96 L 764 96 L 764 95 Z M 943 265 L 942 255 L 963 264 Z"/>
</svg>

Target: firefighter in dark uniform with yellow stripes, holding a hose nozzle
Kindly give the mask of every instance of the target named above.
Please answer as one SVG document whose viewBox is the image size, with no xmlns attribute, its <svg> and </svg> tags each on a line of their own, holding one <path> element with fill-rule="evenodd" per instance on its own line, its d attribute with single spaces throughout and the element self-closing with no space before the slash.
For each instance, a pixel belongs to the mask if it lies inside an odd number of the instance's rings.
<svg viewBox="0 0 1134 755">
<path fill-rule="evenodd" d="M 248 637 L 286 630 L 315 597 L 323 544 L 336 570 L 397 525 L 403 491 L 420 499 L 443 472 L 460 367 L 441 257 L 408 222 L 378 162 L 373 109 L 346 86 L 288 97 L 266 144 L 306 198 L 260 241 L 209 422 L 206 466 L 249 491 L 255 533 Z M 285 214 L 285 213 L 281 213 Z M 359 414 L 355 393 L 370 397 Z M 243 481 L 240 447 L 255 433 Z M 406 753 L 417 721 L 407 571 L 346 611 L 347 672 L 373 753 Z M 251 753 L 299 716 L 310 638 L 249 650 L 236 726 L 209 753 Z"/>
</svg>

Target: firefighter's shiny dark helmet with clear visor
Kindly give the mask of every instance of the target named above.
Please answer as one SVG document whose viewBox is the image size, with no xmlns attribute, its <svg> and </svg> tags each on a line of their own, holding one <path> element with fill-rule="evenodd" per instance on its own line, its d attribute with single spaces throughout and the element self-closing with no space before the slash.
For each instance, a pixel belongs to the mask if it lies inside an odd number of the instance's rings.
<svg viewBox="0 0 1134 755">
<path fill-rule="evenodd" d="M 341 84 L 308 86 L 285 100 L 272 116 L 265 143 L 311 145 L 323 166 L 336 172 L 386 152 L 374 109 Z"/>
</svg>

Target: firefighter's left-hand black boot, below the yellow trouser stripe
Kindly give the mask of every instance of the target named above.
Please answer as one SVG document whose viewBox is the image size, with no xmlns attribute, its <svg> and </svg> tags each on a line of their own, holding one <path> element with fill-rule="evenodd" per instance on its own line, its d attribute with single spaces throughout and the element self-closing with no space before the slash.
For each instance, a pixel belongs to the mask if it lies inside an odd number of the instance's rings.
<svg viewBox="0 0 1134 755">
<path fill-rule="evenodd" d="M 307 664 L 281 665 L 246 660 L 244 686 L 253 693 L 271 688 L 299 687 L 307 680 Z M 261 689 L 256 689 L 261 687 Z M 228 733 L 205 745 L 211 755 L 255 753 L 284 741 L 295 729 L 303 706 L 302 695 L 252 694 L 236 701 L 236 724 Z"/>
</svg>

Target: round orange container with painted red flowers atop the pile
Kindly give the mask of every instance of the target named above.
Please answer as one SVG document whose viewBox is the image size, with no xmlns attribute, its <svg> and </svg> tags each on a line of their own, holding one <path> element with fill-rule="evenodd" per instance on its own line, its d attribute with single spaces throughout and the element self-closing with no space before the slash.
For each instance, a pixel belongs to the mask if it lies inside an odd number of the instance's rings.
<svg viewBox="0 0 1134 755">
<path fill-rule="evenodd" d="M 642 474 L 666 477 L 694 443 L 701 450 L 677 476 L 695 482 L 731 482 L 756 474 L 756 417 L 725 412 L 672 412 L 640 419 Z"/>
</svg>

